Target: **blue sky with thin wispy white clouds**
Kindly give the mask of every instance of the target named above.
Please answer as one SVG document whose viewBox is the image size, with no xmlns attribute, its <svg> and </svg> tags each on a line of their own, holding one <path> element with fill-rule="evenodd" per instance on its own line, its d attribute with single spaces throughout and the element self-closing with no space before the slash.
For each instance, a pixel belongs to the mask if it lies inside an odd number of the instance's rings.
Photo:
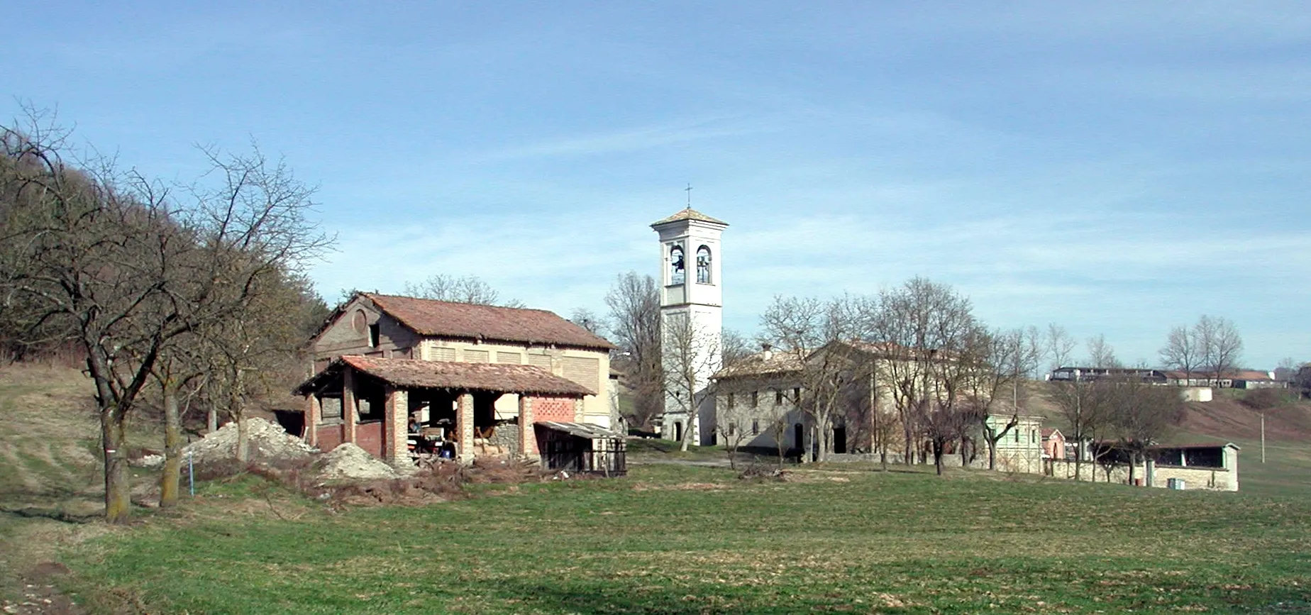
<svg viewBox="0 0 1311 615">
<path fill-rule="evenodd" d="M 749 334 L 923 275 L 1127 362 L 1202 313 L 1311 361 L 1304 3 L 117 4 L 8 7 L 0 117 L 164 178 L 256 139 L 319 186 L 329 300 L 603 312 L 691 184 Z"/>
</svg>

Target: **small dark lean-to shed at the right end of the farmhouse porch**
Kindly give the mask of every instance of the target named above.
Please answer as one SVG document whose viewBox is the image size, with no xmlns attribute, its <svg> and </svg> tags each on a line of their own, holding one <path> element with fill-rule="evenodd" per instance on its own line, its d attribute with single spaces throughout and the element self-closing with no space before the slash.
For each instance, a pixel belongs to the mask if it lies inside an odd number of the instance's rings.
<svg viewBox="0 0 1311 615">
<path fill-rule="evenodd" d="M 628 473 L 624 434 L 586 422 L 538 421 L 534 430 L 545 469 L 604 476 Z"/>
</svg>

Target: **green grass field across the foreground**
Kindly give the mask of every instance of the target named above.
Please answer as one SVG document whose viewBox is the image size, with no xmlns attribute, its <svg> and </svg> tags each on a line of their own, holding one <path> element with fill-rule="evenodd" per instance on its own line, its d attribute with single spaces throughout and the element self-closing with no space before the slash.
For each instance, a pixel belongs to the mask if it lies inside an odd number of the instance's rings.
<svg viewBox="0 0 1311 615">
<path fill-rule="evenodd" d="M 206 485 L 190 521 L 157 518 L 66 561 L 84 595 L 152 612 L 1311 610 L 1306 498 L 966 471 L 797 476 L 648 466 L 338 514 L 270 500 L 287 519 L 219 504 L 261 489 L 233 481 Z"/>
</svg>

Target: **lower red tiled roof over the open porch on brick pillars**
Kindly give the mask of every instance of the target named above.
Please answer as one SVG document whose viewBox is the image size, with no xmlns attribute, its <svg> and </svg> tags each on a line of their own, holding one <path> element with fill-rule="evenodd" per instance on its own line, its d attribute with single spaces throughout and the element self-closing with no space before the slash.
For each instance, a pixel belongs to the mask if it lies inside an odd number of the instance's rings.
<svg viewBox="0 0 1311 615">
<path fill-rule="evenodd" d="M 556 376 L 541 367 L 499 363 L 456 363 L 451 361 L 384 359 L 345 355 L 296 387 L 296 395 L 320 389 L 346 366 L 401 388 L 446 388 L 502 393 L 597 395 L 582 384 Z"/>
</svg>

